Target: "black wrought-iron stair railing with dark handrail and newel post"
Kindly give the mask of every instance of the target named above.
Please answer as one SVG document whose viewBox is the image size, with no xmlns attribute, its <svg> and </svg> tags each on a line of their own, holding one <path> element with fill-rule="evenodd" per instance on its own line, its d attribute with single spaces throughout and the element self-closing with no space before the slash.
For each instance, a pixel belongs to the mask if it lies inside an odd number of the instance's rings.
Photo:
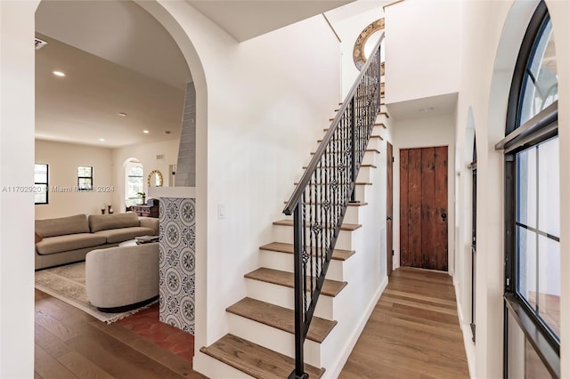
<svg viewBox="0 0 570 379">
<path fill-rule="evenodd" d="M 303 344 L 379 114 L 383 40 L 384 33 L 283 211 L 293 214 L 295 249 L 295 370 L 289 378 L 308 378 Z"/>
</svg>

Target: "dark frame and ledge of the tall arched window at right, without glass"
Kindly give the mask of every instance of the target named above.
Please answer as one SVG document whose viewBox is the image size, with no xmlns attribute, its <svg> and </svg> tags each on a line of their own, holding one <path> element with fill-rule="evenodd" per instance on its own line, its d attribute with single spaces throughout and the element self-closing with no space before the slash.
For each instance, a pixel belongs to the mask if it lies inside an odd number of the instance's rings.
<svg viewBox="0 0 570 379">
<path fill-rule="evenodd" d="M 504 377 L 508 377 L 508 313 L 555 377 L 560 376 L 560 343 L 544 321 L 535 313 L 517 288 L 517 153 L 558 136 L 558 100 L 520 125 L 524 101 L 526 68 L 534 58 L 542 32 L 550 21 L 546 4 L 541 1 L 529 22 L 518 53 L 509 93 L 505 134 L 495 145 L 505 155 L 505 283 L 504 283 Z M 551 22 L 551 21 L 550 21 Z"/>
</svg>

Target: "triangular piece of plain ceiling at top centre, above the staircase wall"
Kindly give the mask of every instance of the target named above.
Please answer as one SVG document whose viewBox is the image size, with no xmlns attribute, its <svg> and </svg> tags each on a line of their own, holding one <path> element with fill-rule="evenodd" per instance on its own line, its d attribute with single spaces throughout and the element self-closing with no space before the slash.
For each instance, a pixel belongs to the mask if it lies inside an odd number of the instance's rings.
<svg viewBox="0 0 570 379">
<path fill-rule="evenodd" d="M 354 0 L 185 0 L 243 42 Z"/>
</svg>

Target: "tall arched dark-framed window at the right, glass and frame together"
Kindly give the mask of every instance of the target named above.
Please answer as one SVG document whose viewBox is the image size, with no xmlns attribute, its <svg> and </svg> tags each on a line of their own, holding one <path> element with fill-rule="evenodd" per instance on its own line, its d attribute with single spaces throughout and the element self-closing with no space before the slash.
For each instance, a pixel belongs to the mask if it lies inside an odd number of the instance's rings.
<svg viewBox="0 0 570 379">
<path fill-rule="evenodd" d="M 558 75 L 541 2 L 526 29 L 509 94 L 505 154 L 507 378 L 560 376 Z"/>
</svg>

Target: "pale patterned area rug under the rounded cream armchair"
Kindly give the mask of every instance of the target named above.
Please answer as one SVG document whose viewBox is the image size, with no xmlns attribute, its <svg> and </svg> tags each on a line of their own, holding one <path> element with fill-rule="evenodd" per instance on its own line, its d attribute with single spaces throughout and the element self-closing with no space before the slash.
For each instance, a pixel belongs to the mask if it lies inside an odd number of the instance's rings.
<svg viewBox="0 0 570 379">
<path fill-rule="evenodd" d="M 107 324 L 118 319 L 124 319 L 139 310 L 150 307 L 152 304 L 120 313 L 107 313 L 98 310 L 87 299 L 85 291 L 85 262 L 36 271 L 36 288 L 45 292 L 45 294 L 50 294 L 60 299 L 62 302 L 67 302 L 85 311 L 95 319 L 100 319 Z"/>
</svg>

